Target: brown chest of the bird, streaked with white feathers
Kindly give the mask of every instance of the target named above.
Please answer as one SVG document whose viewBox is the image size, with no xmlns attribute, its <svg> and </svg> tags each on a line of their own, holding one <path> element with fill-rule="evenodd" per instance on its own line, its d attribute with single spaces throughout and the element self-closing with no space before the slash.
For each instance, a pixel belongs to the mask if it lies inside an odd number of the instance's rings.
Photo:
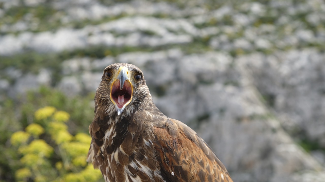
<svg viewBox="0 0 325 182">
<path fill-rule="evenodd" d="M 151 130 L 127 121 L 116 125 L 121 126 L 108 128 L 101 148 L 104 159 L 107 156 L 103 175 L 110 181 L 163 181 L 152 142 L 154 135 L 149 132 Z"/>
</svg>

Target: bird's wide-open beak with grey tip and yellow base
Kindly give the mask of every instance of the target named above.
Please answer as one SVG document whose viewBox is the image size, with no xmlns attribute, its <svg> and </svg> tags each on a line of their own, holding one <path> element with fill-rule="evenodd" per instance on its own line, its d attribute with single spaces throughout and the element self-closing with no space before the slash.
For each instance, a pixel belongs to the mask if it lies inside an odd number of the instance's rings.
<svg viewBox="0 0 325 182">
<path fill-rule="evenodd" d="M 125 106 L 132 100 L 133 88 L 128 77 L 127 67 L 120 67 L 117 78 L 110 88 L 110 100 L 115 105 L 118 115 L 121 115 Z"/>
</svg>

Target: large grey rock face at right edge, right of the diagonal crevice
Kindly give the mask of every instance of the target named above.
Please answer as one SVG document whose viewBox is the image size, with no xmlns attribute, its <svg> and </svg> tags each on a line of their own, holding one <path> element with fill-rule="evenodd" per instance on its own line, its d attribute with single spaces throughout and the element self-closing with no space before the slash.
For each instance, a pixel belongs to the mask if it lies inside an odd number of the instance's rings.
<svg viewBox="0 0 325 182">
<path fill-rule="evenodd" d="M 316 50 L 249 55 L 238 62 L 251 70 L 254 84 L 290 132 L 304 131 L 308 140 L 325 146 L 323 124 L 324 54 Z M 258 61 L 256 61 L 258 60 Z"/>
</svg>

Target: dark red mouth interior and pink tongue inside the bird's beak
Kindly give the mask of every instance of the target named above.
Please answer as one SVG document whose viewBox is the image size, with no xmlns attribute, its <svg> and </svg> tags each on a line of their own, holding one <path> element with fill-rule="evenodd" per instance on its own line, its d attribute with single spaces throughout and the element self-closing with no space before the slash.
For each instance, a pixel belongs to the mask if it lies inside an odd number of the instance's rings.
<svg viewBox="0 0 325 182">
<path fill-rule="evenodd" d="M 128 103 L 132 96 L 132 85 L 129 81 L 125 81 L 123 89 L 120 89 L 120 80 L 114 81 L 111 90 L 111 98 L 116 103 L 117 107 L 122 108 Z"/>
</svg>

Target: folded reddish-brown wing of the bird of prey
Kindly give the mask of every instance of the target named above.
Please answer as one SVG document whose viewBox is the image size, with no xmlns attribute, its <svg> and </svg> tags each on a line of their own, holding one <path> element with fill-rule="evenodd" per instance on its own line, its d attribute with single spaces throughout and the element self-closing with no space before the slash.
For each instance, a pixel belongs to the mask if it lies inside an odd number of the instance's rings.
<svg viewBox="0 0 325 182">
<path fill-rule="evenodd" d="M 166 182 L 232 182 L 212 149 L 188 126 L 166 118 L 154 124 L 154 146 Z"/>
</svg>

